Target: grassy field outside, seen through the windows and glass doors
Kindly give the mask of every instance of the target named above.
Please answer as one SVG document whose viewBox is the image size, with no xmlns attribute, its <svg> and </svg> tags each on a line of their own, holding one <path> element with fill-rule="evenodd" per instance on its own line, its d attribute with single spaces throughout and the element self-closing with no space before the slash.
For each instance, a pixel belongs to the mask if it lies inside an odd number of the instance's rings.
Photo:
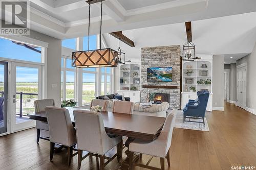
<svg viewBox="0 0 256 170">
<path fill-rule="evenodd" d="M 102 88 L 104 85 L 102 84 Z M 82 104 L 90 103 L 92 99 L 95 99 L 95 83 L 83 83 L 82 84 Z M 107 84 L 107 89 L 110 89 L 110 84 Z M 0 91 L 4 91 L 4 84 L 0 83 Z M 106 93 L 109 93 L 107 90 Z M 17 82 L 16 92 L 26 93 L 38 93 L 36 82 Z M 104 94 L 104 91 L 101 91 Z M 16 113 L 19 113 L 19 99 L 20 95 L 16 94 Z M 62 99 L 62 93 L 61 93 Z M 66 83 L 66 99 L 74 99 L 74 83 Z M 23 95 L 23 113 L 28 114 L 34 112 L 34 101 L 37 100 L 37 95 Z"/>
</svg>

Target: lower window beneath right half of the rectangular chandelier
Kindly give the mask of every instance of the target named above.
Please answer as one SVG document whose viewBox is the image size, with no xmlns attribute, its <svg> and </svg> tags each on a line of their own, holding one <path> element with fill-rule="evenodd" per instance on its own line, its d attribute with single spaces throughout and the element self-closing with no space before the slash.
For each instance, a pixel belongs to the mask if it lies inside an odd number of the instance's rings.
<svg viewBox="0 0 256 170">
<path fill-rule="evenodd" d="M 82 69 L 82 105 L 95 99 L 96 68 Z"/>
</svg>

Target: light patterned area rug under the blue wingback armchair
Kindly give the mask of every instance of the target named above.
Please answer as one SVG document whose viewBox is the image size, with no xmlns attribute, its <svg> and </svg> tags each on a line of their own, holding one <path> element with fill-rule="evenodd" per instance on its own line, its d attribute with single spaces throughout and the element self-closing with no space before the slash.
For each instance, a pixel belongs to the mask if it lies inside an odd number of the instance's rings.
<svg viewBox="0 0 256 170">
<path fill-rule="evenodd" d="M 186 120 L 188 120 L 188 118 Z M 195 119 L 195 120 L 198 121 L 198 119 Z M 202 119 L 200 119 L 199 121 L 203 122 Z M 185 122 L 183 124 L 183 112 L 181 110 L 178 110 L 174 127 L 182 128 L 182 129 L 198 130 L 198 131 L 210 131 L 206 118 L 204 118 L 204 122 L 205 122 L 205 125 L 203 123 L 195 123 L 195 122 Z"/>
</svg>

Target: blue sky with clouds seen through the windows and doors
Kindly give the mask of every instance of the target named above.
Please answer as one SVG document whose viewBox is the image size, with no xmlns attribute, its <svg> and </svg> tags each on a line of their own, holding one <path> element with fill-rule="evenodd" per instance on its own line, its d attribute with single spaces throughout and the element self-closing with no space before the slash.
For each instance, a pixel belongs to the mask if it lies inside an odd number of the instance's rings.
<svg viewBox="0 0 256 170">
<path fill-rule="evenodd" d="M 62 40 L 62 46 L 74 49 L 76 48 L 76 39 Z M 97 36 L 90 36 L 90 50 L 95 50 L 97 47 Z M 41 47 L 37 47 L 37 50 L 41 51 Z M 88 37 L 83 38 L 83 50 L 88 50 Z M 0 38 L 0 57 L 9 59 L 18 59 L 25 61 L 41 62 L 41 54 L 34 52 L 24 46 L 17 45 L 11 40 Z M 71 60 L 67 60 L 67 68 L 74 68 L 71 66 Z M 104 68 L 102 68 L 104 69 Z M 110 68 L 107 68 L 107 72 Z M 84 70 L 95 71 L 95 68 L 84 68 Z M 103 72 L 103 70 L 102 70 Z M 16 81 L 17 82 L 37 82 L 38 81 L 38 69 L 17 67 L 16 68 Z M 74 72 L 67 71 L 67 82 L 74 82 Z M 0 68 L 0 81 L 4 77 L 3 69 Z M 83 82 L 95 82 L 94 74 L 83 74 Z"/>
</svg>

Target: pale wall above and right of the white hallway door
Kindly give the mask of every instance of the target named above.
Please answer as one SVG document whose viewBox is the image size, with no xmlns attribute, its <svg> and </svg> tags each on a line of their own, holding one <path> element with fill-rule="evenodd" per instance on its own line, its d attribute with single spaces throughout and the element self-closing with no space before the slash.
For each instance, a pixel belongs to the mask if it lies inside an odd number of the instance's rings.
<svg viewBox="0 0 256 170">
<path fill-rule="evenodd" d="M 239 59 L 237 65 L 247 63 L 247 86 L 246 86 L 246 105 L 250 109 L 256 109 L 256 43 L 252 53 Z"/>
</svg>

